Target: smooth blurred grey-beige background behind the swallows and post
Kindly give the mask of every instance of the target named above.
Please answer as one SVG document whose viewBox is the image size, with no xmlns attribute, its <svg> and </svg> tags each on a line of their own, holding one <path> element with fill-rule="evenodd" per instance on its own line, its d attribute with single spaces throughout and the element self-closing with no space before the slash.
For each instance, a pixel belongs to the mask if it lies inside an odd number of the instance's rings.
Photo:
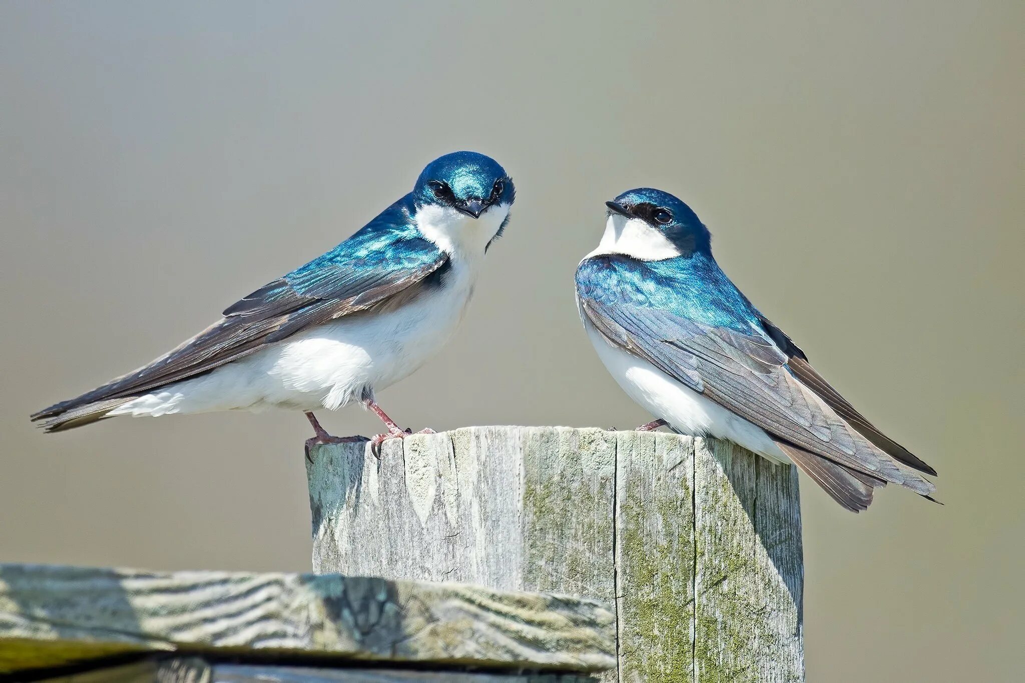
<svg viewBox="0 0 1025 683">
<path fill-rule="evenodd" d="M 669 190 L 940 472 L 804 484 L 811 681 L 1010 681 L 1025 637 L 1021 2 L 0 4 L 0 561 L 310 567 L 300 414 L 28 415 L 170 348 L 454 150 L 519 199 L 414 429 L 629 428 L 574 305 L 603 202 Z M 359 409 L 323 414 L 371 434 Z M 1017 659 L 1017 661 L 1016 661 Z M 1014 672 L 1014 675 L 1013 675 Z"/>
</svg>

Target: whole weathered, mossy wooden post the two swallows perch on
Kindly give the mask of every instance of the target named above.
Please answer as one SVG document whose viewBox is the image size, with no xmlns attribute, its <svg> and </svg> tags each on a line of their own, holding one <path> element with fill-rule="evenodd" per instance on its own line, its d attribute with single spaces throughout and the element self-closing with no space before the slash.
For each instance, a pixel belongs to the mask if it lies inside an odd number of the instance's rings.
<svg viewBox="0 0 1025 683">
<path fill-rule="evenodd" d="M 616 606 L 618 681 L 801 681 L 797 475 L 675 434 L 474 427 L 319 446 L 314 570 Z"/>
</svg>

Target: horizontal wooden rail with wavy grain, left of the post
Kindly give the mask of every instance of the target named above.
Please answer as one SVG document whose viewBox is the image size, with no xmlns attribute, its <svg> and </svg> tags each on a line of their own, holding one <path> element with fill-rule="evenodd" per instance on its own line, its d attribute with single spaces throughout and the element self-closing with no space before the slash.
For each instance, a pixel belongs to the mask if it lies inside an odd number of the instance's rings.
<svg viewBox="0 0 1025 683">
<path fill-rule="evenodd" d="M 0 563 L 0 674 L 132 652 L 583 672 L 615 666 L 615 617 L 459 584 Z"/>
</svg>

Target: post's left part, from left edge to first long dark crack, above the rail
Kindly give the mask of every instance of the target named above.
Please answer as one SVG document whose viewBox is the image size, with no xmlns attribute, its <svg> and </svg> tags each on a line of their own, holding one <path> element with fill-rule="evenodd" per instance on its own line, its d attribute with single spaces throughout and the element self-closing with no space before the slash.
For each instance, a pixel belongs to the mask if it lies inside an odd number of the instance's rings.
<svg viewBox="0 0 1025 683">
<path fill-rule="evenodd" d="M 326 444 L 306 469 L 315 571 L 613 599 L 615 437 L 602 430 L 417 434 L 379 461 Z"/>
</svg>

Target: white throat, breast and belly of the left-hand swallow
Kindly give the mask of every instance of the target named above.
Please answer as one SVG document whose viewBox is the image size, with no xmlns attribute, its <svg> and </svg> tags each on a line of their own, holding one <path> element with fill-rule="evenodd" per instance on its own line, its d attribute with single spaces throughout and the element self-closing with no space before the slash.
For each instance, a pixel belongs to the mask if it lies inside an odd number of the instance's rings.
<svg viewBox="0 0 1025 683">
<path fill-rule="evenodd" d="M 112 415 L 334 410 L 372 395 L 411 375 L 451 339 L 473 296 L 485 247 L 507 213 L 506 205 L 476 220 L 451 209 L 418 212 L 421 232 L 449 254 L 442 287 L 401 307 L 350 314 L 305 330 L 212 373 L 140 396 Z"/>
</svg>

